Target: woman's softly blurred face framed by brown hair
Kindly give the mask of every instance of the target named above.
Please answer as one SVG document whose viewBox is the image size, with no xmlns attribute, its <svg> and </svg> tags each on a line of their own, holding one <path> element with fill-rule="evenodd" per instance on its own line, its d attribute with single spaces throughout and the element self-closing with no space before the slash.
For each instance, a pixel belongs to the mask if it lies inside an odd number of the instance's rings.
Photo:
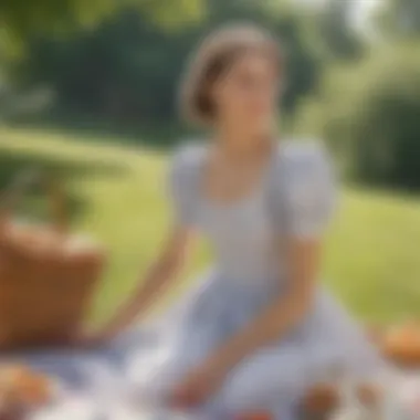
<svg viewBox="0 0 420 420">
<path fill-rule="evenodd" d="M 264 134 L 273 126 L 279 98 L 274 61 L 255 52 L 238 57 L 213 85 L 217 123 L 250 134 Z"/>
</svg>

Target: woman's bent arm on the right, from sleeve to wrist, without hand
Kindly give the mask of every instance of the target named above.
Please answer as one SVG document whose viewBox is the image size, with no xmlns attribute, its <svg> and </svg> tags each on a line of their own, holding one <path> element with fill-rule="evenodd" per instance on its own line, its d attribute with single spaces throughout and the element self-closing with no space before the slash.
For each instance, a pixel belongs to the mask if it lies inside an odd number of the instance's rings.
<svg viewBox="0 0 420 420">
<path fill-rule="evenodd" d="M 303 319 L 314 300 L 321 248 L 319 240 L 290 241 L 291 287 L 287 294 L 271 303 L 251 324 L 217 349 L 208 365 L 227 372 L 249 354 L 281 339 Z"/>
</svg>

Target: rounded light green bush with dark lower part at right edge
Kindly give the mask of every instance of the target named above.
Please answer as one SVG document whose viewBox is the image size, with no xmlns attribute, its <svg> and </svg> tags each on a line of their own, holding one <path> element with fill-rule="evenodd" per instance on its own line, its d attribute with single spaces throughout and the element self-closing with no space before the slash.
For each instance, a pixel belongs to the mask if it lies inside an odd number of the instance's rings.
<svg viewBox="0 0 420 420">
<path fill-rule="evenodd" d="M 312 112 L 364 182 L 420 189 L 420 49 L 389 46 L 326 78 Z"/>
</svg>

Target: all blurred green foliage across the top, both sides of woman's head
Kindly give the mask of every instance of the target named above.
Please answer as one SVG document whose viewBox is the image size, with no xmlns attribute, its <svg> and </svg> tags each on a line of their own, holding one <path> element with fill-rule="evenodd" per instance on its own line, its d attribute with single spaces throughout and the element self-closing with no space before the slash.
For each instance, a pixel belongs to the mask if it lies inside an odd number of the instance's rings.
<svg viewBox="0 0 420 420">
<path fill-rule="evenodd" d="M 46 86 L 61 115 L 172 127 L 190 51 L 225 22 L 251 21 L 282 40 L 291 127 L 323 135 L 359 181 L 420 188 L 418 0 L 384 0 L 371 28 L 377 51 L 354 31 L 353 0 L 313 9 L 286 0 L 23 3 L 0 3 L 0 42 L 14 33 L 27 46 L 19 60 L 0 54 L 4 78 L 18 91 Z"/>
</svg>

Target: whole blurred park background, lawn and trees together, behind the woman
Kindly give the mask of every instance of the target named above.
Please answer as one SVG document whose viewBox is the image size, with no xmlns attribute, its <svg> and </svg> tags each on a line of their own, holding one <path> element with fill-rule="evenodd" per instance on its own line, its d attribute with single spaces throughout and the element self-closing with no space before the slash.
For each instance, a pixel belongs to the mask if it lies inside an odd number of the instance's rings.
<svg viewBox="0 0 420 420">
<path fill-rule="evenodd" d="M 63 178 L 74 228 L 109 250 L 106 316 L 162 239 L 171 148 L 199 135 L 177 115 L 183 64 L 230 21 L 282 40 L 279 125 L 336 159 L 327 283 L 365 319 L 420 316 L 419 0 L 2 0 L 0 186 L 23 168 Z M 207 259 L 203 244 L 189 273 Z"/>
</svg>

